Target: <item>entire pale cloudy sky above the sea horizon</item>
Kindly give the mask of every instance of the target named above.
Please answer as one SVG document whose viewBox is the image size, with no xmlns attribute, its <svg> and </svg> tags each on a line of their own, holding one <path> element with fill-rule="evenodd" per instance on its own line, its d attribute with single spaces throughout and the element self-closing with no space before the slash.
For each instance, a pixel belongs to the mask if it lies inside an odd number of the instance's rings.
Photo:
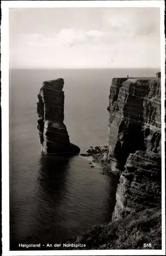
<svg viewBox="0 0 166 256">
<path fill-rule="evenodd" d="M 10 8 L 10 68 L 160 68 L 159 8 Z"/>
</svg>

